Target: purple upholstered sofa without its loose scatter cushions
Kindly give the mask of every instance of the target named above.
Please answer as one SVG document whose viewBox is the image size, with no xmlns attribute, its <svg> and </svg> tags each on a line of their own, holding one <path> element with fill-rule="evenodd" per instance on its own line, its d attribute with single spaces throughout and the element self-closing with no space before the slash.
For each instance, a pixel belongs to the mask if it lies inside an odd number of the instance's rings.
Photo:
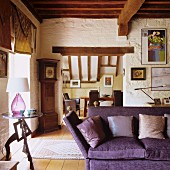
<svg viewBox="0 0 170 170">
<path fill-rule="evenodd" d="M 89 107 L 89 117 L 100 115 L 107 140 L 96 148 L 86 142 L 77 125 L 82 122 L 75 112 L 64 118 L 66 126 L 79 146 L 86 170 L 167 170 L 170 169 L 170 139 L 137 137 L 110 137 L 108 116 L 124 115 L 134 117 L 134 130 L 138 136 L 139 114 L 170 114 L 170 107 Z"/>
</svg>

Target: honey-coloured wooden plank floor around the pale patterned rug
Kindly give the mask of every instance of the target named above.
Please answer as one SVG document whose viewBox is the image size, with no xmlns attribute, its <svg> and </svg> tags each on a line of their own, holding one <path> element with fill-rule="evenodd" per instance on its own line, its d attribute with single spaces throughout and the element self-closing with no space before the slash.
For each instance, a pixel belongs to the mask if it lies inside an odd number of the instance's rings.
<svg viewBox="0 0 170 170">
<path fill-rule="evenodd" d="M 36 138 L 46 139 L 73 139 L 65 125 L 61 130 L 46 133 Z M 29 140 L 29 139 L 28 139 Z M 19 161 L 18 170 L 29 170 L 29 162 L 26 155 L 22 152 L 23 141 L 11 143 L 11 160 Z M 29 148 L 32 149 L 34 143 L 29 140 Z M 51 160 L 51 159 L 33 159 L 35 170 L 85 170 L 84 160 Z"/>
</svg>

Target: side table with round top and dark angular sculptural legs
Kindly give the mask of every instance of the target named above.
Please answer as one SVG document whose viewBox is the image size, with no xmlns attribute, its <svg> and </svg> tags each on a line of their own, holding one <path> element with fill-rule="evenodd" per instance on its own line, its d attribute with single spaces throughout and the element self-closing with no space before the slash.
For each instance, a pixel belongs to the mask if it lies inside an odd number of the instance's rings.
<svg viewBox="0 0 170 170">
<path fill-rule="evenodd" d="M 14 141 L 17 140 L 18 142 L 20 140 L 24 140 L 24 146 L 23 146 L 23 152 L 27 155 L 28 161 L 30 162 L 30 169 L 34 170 L 34 165 L 32 162 L 32 157 L 29 151 L 28 143 L 27 143 L 27 136 L 29 136 L 32 132 L 26 123 L 25 119 L 32 119 L 36 117 L 41 117 L 43 114 L 42 113 L 36 113 L 36 114 L 22 114 L 22 115 L 13 115 L 13 113 L 2 113 L 2 117 L 6 119 L 17 119 L 18 121 L 16 123 L 13 123 L 15 133 L 9 137 L 7 142 L 5 143 L 5 149 L 6 149 L 6 161 L 9 160 L 9 155 L 10 155 L 10 144 Z M 19 136 L 17 127 L 19 127 L 22 131 L 21 136 Z"/>
</svg>

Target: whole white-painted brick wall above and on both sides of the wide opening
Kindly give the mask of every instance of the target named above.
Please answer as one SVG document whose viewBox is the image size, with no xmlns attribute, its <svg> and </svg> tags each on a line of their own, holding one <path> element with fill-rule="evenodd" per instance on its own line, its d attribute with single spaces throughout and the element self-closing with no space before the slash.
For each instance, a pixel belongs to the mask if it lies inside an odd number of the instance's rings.
<svg viewBox="0 0 170 170">
<path fill-rule="evenodd" d="M 123 56 L 123 92 L 124 106 L 143 106 L 149 98 L 140 91 L 135 91 L 137 87 L 147 87 L 151 85 L 150 70 L 152 65 L 141 65 L 141 29 L 142 28 L 166 28 L 167 36 L 170 19 L 136 19 L 130 23 L 130 33 L 128 37 L 118 36 L 117 19 L 48 19 L 41 24 L 41 57 L 62 58 L 59 54 L 52 54 L 52 46 L 91 46 L 91 47 L 114 47 L 114 46 L 134 46 L 134 54 Z M 167 37 L 167 39 L 168 39 Z M 169 45 L 167 41 L 167 49 Z M 167 51 L 167 65 L 169 66 L 169 50 Z M 159 66 L 159 65 L 156 65 Z M 147 67 L 147 78 L 145 81 L 131 81 L 131 67 Z M 61 77 L 61 76 L 60 76 Z M 62 79 L 62 78 L 61 78 Z M 62 101 L 62 81 L 59 79 L 57 86 L 59 95 L 58 106 Z M 152 92 L 153 97 L 168 97 L 168 91 Z M 58 113 L 61 114 L 62 109 Z"/>
</svg>

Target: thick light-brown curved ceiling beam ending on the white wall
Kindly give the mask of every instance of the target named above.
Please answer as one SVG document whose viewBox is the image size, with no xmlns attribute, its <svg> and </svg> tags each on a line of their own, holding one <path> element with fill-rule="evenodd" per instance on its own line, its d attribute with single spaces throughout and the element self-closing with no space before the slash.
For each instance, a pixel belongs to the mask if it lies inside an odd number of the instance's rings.
<svg viewBox="0 0 170 170">
<path fill-rule="evenodd" d="M 127 0 L 118 18 L 119 36 L 128 35 L 128 23 L 144 2 L 145 0 Z"/>
</svg>

